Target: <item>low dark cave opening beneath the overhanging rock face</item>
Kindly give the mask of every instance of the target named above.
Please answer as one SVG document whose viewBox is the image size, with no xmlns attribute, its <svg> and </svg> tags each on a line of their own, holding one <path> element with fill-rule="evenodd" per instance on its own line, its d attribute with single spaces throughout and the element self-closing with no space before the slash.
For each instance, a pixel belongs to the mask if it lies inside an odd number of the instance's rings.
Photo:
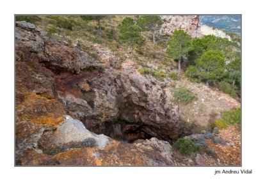
<svg viewBox="0 0 256 181">
<path fill-rule="evenodd" d="M 192 134 L 191 129 L 188 127 L 180 128 L 179 132 L 175 133 L 173 130 L 148 125 L 143 122 L 131 122 L 123 119 L 122 116 L 117 116 L 108 122 L 104 122 L 103 125 L 98 124 L 99 122 L 97 123 L 93 118 L 86 118 L 82 122 L 86 129 L 91 132 L 104 134 L 122 143 L 133 143 L 138 139 L 157 138 L 168 141 L 172 145 L 177 139 Z"/>
</svg>

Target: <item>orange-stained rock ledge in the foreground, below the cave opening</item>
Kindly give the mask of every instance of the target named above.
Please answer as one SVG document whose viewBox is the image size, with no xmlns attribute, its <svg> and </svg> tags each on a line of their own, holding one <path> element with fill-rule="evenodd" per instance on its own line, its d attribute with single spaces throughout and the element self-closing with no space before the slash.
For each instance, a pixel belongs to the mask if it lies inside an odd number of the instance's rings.
<svg viewBox="0 0 256 181">
<path fill-rule="evenodd" d="M 104 149 L 81 148 L 55 155 L 46 155 L 29 150 L 22 157 L 17 158 L 16 162 L 25 166 L 172 166 L 174 164 L 171 155 L 172 148 L 166 141 L 150 139 L 140 140 L 140 145 L 139 143 L 124 145 L 111 139 Z"/>
</svg>

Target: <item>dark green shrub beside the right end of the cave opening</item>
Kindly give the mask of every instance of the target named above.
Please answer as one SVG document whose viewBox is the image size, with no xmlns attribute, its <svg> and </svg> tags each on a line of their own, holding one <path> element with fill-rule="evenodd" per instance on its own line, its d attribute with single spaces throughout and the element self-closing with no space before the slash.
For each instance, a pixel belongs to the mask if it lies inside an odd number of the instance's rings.
<svg viewBox="0 0 256 181">
<path fill-rule="evenodd" d="M 189 139 L 180 138 L 174 144 L 173 148 L 179 150 L 182 155 L 191 155 L 197 150 L 196 145 Z"/>
</svg>

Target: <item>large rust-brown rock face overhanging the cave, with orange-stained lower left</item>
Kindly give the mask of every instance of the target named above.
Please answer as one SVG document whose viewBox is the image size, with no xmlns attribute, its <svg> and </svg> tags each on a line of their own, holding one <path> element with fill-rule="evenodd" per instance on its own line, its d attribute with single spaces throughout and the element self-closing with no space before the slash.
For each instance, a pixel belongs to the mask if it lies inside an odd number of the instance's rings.
<svg viewBox="0 0 256 181">
<path fill-rule="evenodd" d="M 96 134 L 122 140 L 156 137 L 171 143 L 177 138 L 179 122 L 165 88 L 136 72 L 132 61 L 115 70 L 105 61 L 52 40 L 28 22 L 16 22 L 15 41 L 17 157 L 28 150 L 41 153 L 42 137 L 65 132 L 66 114 Z M 58 149 L 60 144 L 68 149 L 81 142 L 73 140 L 68 146 L 64 141 L 68 139 L 60 135 L 61 143 L 57 137 L 52 140 Z"/>
</svg>

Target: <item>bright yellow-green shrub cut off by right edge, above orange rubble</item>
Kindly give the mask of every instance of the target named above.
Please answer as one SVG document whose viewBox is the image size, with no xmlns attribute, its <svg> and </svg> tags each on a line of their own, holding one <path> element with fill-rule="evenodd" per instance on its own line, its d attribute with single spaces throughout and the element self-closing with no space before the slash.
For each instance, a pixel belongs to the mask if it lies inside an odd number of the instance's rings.
<svg viewBox="0 0 256 181">
<path fill-rule="evenodd" d="M 224 111 L 222 120 L 228 125 L 241 125 L 241 108 L 239 107 L 234 111 Z"/>
</svg>

